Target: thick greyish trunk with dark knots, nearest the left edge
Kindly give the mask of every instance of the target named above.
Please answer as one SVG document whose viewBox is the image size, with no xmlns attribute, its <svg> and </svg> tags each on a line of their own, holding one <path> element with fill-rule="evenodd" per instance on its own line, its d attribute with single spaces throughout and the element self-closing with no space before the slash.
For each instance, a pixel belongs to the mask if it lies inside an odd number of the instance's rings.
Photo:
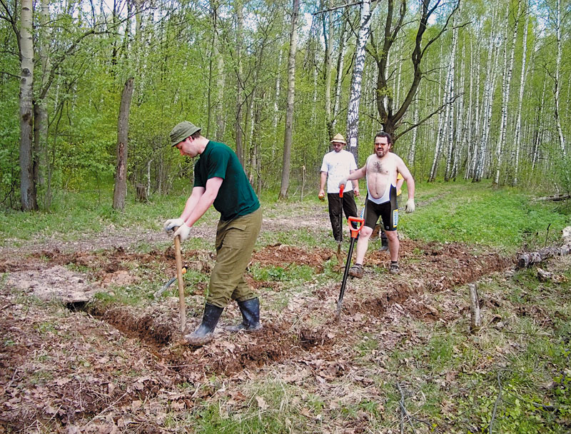
<svg viewBox="0 0 571 434">
<path fill-rule="evenodd" d="M 20 204 L 22 211 L 38 209 L 34 179 L 32 133 L 34 113 L 34 39 L 32 38 L 32 1 L 21 0 L 20 17 Z"/>
</svg>

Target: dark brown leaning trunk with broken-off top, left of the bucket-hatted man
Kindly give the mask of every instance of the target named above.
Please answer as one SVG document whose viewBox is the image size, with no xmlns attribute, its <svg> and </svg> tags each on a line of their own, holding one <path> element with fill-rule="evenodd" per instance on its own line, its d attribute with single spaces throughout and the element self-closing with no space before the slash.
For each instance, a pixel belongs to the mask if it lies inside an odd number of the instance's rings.
<svg viewBox="0 0 571 434">
<path fill-rule="evenodd" d="M 133 98 L 133 77 L 127 79 L 121 93 L 121 106 L 117 122 L 117 162 L 115 168 L 115 188 L 113 209 L 123 211 L 127 196 L 127 153 L 129 133 L 129 110 Z"/>
</svg>

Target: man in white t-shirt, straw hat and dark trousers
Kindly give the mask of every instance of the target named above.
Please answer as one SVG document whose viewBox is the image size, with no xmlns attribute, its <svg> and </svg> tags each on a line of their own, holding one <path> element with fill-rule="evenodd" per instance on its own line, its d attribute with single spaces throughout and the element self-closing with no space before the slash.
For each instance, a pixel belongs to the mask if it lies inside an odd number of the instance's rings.
<svg viewBox="0 0 571 434">
<path fill-rule="evenodd" d="M 333 229 L 335 241 L 343 240 L 341 228 L 341 210 L 345 212 L 345 217 L 357 216 L 357 205 L 354 196 L 359 196 L 359 183 L 353 181 L 353 185 L 348 184 L 343 191 L 343 198 L 339 197 L 339 181 L 347 178 L 353 171 L 357 170 L 355 157 L 352 153 L 345 151 L 345 138 L 341 134 L 335 134 L 331 141 L 333 151 L 323 156 L 321 164 L 321 182 L 318 197 L 323 201 L 325 198 L 325 181 L 327 181 L 327 201 L 329 203 L 329 219 Z"/>
</svg>

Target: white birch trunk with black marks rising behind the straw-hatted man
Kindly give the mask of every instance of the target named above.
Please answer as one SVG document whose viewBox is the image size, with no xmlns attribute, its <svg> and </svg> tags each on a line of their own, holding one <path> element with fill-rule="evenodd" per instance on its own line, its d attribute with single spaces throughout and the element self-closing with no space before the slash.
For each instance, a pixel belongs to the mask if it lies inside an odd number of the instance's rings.
<svg viewBox="0 0 571 434">
<path fill-rule="evenodd" d="M 370 17 L 370 0 L 363 0 L 360 9 L 357 46 L 355 47 L 355 66 L 353 66 L 353 77 L 351 78 L 347 108 L 347 143 L 349 143 L 349 151 L 355 156 L 355 161 L 359 161 L 359 104 L 361 99 L 361 81 L 363 80 L 363 70 L 365 69 L 365 44 L 367 44 L 367 39 L 369 38 Z"/>
</svg>

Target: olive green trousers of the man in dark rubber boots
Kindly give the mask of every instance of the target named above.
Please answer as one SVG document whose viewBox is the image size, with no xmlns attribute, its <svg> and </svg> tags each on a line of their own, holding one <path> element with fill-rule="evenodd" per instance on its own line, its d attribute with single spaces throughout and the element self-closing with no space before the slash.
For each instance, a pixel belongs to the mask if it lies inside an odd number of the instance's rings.
<svg viewBox="0 0 571 434">
<path fill-rule="evenodd" d="M 206 303 L 226 308 L 231 300 L 256 298 L 244 280 L 246 267 L 262 226 L 262 210 L 219 221 L 216 229 L 216 266 L 211 273 Z"/>
</svg>

